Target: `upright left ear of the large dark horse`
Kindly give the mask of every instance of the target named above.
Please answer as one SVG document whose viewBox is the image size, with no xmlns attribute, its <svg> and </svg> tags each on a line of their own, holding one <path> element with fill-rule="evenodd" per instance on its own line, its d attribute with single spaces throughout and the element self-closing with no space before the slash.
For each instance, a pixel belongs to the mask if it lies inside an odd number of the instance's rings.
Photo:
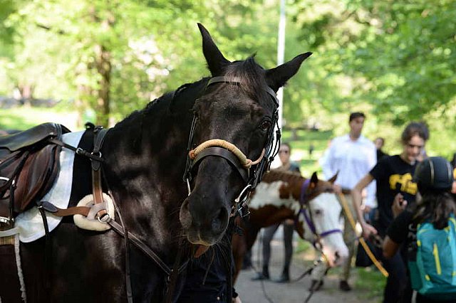
<svg viewBox="0 0 456 303">
<path fill-rule="evenodd" d="M 207 67 L 209 68 L 212 77 L 222 75 L 224 67 L 230 63 L 229 60 L 224 58 L 219 48 L 217 48 L 212 40 L 209 31 L 207 31 L 201 23 L 198 23 L 198 28 L 202 36 L 202 53 L 204 53 L 204 58 L 206 58 Z"/>
</svg>

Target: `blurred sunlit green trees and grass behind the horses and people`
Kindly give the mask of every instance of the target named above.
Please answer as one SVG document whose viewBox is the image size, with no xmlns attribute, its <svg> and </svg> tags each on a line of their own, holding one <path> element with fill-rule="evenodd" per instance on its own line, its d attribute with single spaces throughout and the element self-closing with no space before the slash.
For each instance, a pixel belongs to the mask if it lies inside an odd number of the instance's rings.
<svg viewBox="0 0 456 303">
<path fill-rule="evenodd" d="M 314 52 L 284 89 L 284 140 L 304 176 L 364 111 L 363 133 L 400 151 L 430 127 L 427 154 L 456 151 L 456 1 L 288 0 L 285 60 Z M 197 22 L 229 60 L 276 66 L 280 0 L 0 0 L 0 129 L 113 125 L 209 75 Z"/>
</svg>

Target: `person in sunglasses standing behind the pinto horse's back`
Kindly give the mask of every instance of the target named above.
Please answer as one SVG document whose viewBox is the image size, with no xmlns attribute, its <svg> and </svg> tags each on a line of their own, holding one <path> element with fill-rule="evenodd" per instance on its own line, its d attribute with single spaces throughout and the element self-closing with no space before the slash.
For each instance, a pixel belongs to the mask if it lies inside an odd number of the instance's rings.
<svg viewBox="0 0 456 303">
<path fill-rule="evenodd" d="M 279 148 L 279 158 L 281 161 L 281 166 L 276 170 L 279 171 L 293 171 L 296 174 L 301 174 L 299 170 L 299 165 L 293 161 L 290 161 L 291 157 L 291 147 L 288 143 L 282 143 Z M 271 225 L 263 230 L 263 265 L 261 272 L 258 273 L 257 277 L 252 278 L 252 280 L 269 280 L 269 259 L 271 257 L 271 240 L 276 233 L 277 228 L 280 224 Z M 284 283 L 290 281 L 290 265 L 291 258 L 293 257 L 293 231 L 294 231 L 294 221 L 286 220 L 282 224 L 284 228 L 284 268 L 282 270 L 281 276 L 278 280 L 274 282 Z"/>
</svg>

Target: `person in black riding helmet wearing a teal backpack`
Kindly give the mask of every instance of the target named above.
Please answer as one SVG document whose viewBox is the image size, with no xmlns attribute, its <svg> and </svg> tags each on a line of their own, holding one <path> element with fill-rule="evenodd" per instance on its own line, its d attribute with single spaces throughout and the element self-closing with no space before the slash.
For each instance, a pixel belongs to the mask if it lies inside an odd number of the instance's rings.
<svg viewBox="0 0 456 303">
<path fill-rule="evenodd" d="M 398 255 L 401 245 L 407 248 L 408 288 L 415 289 L 414 302 L 455 302 L 456 264 L 454 255 L 448 253 L 456 250 L 452 167 L 442 157 L 430 157 L 418 164 L 413 179 L 418 185 L 417 203 L 408 207 L 408 201 L 396 196 L 395 219 L 388 228 L 383 255 L 388 259 Z M 426 282 L 423 277 L 428 277 Z M 410 297 L 403 302 L 410 302 Z"/>
</svg>

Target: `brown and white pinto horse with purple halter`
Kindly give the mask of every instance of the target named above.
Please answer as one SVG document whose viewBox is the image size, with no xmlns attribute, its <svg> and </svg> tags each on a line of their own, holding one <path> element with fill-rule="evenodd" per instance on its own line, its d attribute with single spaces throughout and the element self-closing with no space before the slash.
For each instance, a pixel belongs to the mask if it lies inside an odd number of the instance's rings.
<svg viewBox="0 0 456 303">
<path fill-rule="evenodd" d="M 250 198 L 249 220 L 239 220 L 244 235 L 233 236 L 234 281 L 259 230 L 286 219 L 294 220 L 299 236 L 317 246 L 329 266 L 340 265 L 348 256 L 348 248 L 340 224 L 341 205 L 332 189 L 335 180 L 336 176 L 328 181 L 318 180 L 316 173 L 311 179 L 288 171 L 265 174 Z"/>
</svg>

